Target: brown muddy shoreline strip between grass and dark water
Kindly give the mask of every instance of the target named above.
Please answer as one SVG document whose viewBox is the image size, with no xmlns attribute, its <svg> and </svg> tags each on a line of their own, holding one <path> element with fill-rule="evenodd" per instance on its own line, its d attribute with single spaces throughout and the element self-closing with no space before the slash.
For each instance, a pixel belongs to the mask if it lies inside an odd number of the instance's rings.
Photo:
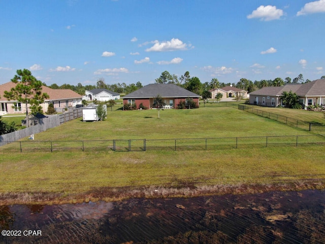
<svg viewBox="0 0 325 244">
<path fill-rule="evenodd" d="M 197 182 L 196 182 L 197 185 Z M 63 194 L 47 192 L 0 193 L 0 205 L 12 204 L 69 204 L 82 202 L 114 202 L 132 198 L 191 198 L 211 195 L 242 195 L 273 191 L 323 190 L 322 179 L 304 179 L 273 184 L 202 185 L 184 182 L 178 186 L 150 186 L 142 188 L 96 188 L 85 193 Z"/>
</svg>

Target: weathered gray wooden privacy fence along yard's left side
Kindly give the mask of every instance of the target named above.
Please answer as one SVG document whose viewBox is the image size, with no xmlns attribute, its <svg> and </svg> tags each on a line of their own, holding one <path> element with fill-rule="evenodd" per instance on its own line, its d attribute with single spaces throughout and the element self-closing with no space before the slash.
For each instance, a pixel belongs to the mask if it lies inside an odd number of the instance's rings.
<svg viewBox="0 0 325 244">
<path fill-rule="evenodd" d="M 40 123 L 36 126 L 31 126 L 22 130 L 1 135 L 0 146 L 18 141 L 24 137 L 29 137 L 30 135 L 41 133 L 78 117 L 82 117 L 82 108 L 74 109 L 62 114 L 48 115 L 47 118 L 40 120 Z"/>
</svg>

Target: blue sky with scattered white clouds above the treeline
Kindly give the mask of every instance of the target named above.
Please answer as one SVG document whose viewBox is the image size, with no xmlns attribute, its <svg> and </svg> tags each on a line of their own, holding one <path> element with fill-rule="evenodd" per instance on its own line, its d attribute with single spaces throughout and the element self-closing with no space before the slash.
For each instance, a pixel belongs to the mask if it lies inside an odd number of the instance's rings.
<svg viewBox="0 0 325 244">
<path fill-rule="evenodd" d="M 325 75 L 325 0 L 0 0 L 0 84 Z"/>
</svg>

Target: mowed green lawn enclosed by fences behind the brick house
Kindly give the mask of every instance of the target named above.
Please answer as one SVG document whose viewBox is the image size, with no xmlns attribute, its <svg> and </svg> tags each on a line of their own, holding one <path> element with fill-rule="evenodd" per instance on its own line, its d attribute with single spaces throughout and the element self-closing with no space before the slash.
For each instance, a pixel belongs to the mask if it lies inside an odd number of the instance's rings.
<svg viewBox="0 0 325 244">
<path fill-rule="evenodd" d="M 213 107 L 109 111 L 107 119 L 69 121 L 35 136 L 35 140 L 171 139 L 307 135 L 238 109 Z M 28 140 L 28 139 L 25 139 Z"/>
</svg>

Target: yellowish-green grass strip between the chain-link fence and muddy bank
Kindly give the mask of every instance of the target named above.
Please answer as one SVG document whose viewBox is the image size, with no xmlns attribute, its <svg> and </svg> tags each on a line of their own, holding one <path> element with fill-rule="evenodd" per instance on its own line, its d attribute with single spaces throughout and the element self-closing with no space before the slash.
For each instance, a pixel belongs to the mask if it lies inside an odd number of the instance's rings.
<svg viewBox="0 0 325 244">
<path fill-rule="evenodd" d="M 322 146 L 215 151 L 2 154 L 1 193 L 85 193 L 99 188 L 268 185 L 325 179 Z"/>
</svg>

